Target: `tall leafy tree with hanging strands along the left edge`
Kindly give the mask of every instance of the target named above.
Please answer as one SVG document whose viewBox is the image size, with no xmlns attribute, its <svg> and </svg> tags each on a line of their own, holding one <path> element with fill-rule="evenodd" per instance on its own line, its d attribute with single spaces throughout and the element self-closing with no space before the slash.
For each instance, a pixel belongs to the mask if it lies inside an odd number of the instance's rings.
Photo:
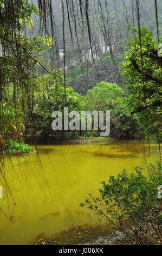
<svg viewBox="0 0 162 256">
<path fill-rule="evenodd" d="M 0 15 L 0 135 L 2 142 L 10 138 L 21 142 L 23 123 L 33 121 L 34 93 L 40 90 L 37 77 L 44 72 L 57 77 L 44 58 L 53 40 L 47 35 L 27 36 L 33 27 L 31 16 L 41 15 L 33 3 L 1 0 Z"/>
</svg>

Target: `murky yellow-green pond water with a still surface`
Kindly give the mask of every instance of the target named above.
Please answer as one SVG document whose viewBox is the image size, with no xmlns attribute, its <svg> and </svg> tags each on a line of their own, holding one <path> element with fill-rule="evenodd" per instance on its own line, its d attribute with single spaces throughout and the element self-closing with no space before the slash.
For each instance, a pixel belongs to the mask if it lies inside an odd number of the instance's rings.
<svg viewBox="0 0 162 256">
<path fill-rule="evenodd" d="M 5 157 L 0 244 L 33 245 L 43 232 L 51 235 L 69 224 L 99 224 L 99 216 L 89 216 L 80 203 L 89 192 L 97 195 L 99 181 L 110 175 L 124 168 L 132 172 L 135 166 L 145 166 L 146 159 L 158 161 L 157 145 L 151 145 L 150 157 L 144 154 L 146 147 L 138 141 L 39 145 L 38 154 Z"/>
</svg>

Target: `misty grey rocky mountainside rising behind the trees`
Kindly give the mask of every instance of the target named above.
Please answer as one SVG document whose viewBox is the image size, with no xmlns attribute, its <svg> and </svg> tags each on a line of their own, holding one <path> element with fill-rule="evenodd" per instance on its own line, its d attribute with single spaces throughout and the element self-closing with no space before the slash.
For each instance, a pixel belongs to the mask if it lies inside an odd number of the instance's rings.
<svg viewBox="0 0 162 256">
<path fill-rule="evenodd" d="M 36 3 L 36 0 L 34 0 Z M 72 1 L 73 2 L 73 1 Z M 84 1 L 83 1 L 84 2 Z M 107 8 L 105 2 L 107 2 Z M 124 4 L 125 2 L 125 4 Z M 93 88 L 96 83 L 101 81 L 108 81 L 112 83 L 121 84 L 122 77 L 119 72 L 119 62 L 122 53 L 126 50 L 125 42 L 130 39 L 131 31 L 128 31 L 126 26 L 138 26 L 137 14 L 135 13 L 135 1 L 125 0 L 100 0 L 102 11 L 98 5 L 98 1 L 89 1 L 89 22 L 90 31 L 92 33 L 92 45 L 89 44 L 88 29 L 86 25 L 86 17 L 83 16 L 83 27 L 81 24 L 81 14 L 79 9 L 79 0 L 69 9 L 70 25 L 73 35 L 73 44 L 69 31 L 68 13 L 66 9 L 66 1 L 64 1 L 64 17 L 65 17 L 65 45 L 66 51 L 63 50 L 63 29 L 62 29 L 62 5 L 61 1 L 53 0 L 53 11 L 55 19 L 55 31 L 57 44 L 54 45 L 54 52 L 59 52 L 59 66 L 65 68 L 67 83 L 73 87 L 76 92 L 83 95 L 86 94 L 88 88 Z M 149 2 L 149 3 L 148 3 Z M 141 27 L 145 26 L 153 31 L 156 35 L 155 15 L 153 0 L 141 3 Z M 132 19 L 132 8 L 134 8 L 134 19 Z M 162 27 L 162 13 L 161 7 L 158 6 L 159 11 L 159 28 Z M 108 12 L 106 12 L 106 10 Z M 106 30 L 109 26 L 109 42 L 104 34 L 103 20 L 105 22 Z M 75 20 L 75 22 L 74 22 Z M 108 23 L 107 23 L 108 21 Z M 134 22 L 134 23 L 133 23 Z M 33 33 L 38 33 L 38 21 L 34 21 Z M 49 25 L 50 35 L 50 25 Z M 77 35 L 77 36 L 76 36 Z M 56 46 L 57 45 L 57 46 Z M 57 47 L 57 49 L 56 49 Z M 110 51 L 110 47 L 111 50 Z M 113 58 L 111 53 L 113 52 Z M 66 66 L 64 67 L 64 56 L 66 57 Z M 56 56 L 50 57 L 47 54 L 47 59 L 55 62 Z M 113 62 L 115 64 L 113 64 Z M 58 66 L 58 63 L 56 63 Z"/>
</svg>

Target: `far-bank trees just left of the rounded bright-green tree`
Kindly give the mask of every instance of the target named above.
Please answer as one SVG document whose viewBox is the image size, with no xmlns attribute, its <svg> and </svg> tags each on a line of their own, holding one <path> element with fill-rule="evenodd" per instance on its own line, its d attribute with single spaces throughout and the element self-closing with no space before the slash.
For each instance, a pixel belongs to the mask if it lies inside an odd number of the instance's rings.
<svg viewBox="0 0 162 256">
<path fill-rule="evenodd" d="M 60 76 L 63 76 L 62 70 L 55 71 Z M 34 108 L 33 120 L 27 120 L 25 131 L 25 138 L 48 138 L 53 135 L 54 131 L 51 129 L 51 114 L 54 111 L 63 113 L 65 106 L 69 108 L 69 112 L 80 112 L 83 96 L 77 94 L 74 89 L 70 87 L 64 88 L 60 80 L 56 80 L 51 75 L 44 76 L 43 80 L 37 80 L 37 86 L 41 89 L 34 94 Z M 65 94 L 66 93 L 66 94 Z M 61 132 L 60 132 L 61 133 Z"/>
</svg>

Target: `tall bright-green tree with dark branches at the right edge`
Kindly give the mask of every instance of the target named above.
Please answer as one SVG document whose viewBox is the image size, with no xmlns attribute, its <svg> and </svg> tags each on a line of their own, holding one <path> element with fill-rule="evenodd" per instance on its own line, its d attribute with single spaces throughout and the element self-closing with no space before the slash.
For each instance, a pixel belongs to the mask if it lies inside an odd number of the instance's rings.
<svg viewBox="0 0 162 256">
<path fill-rule="evenodd" d="M 141 44 L 137 35 L 128 45 L 131 48 L 121 63 L 125 83 L 129 84 L 127 103 L 130 110 L 139 113 L 143 135 L 160 142 L 162 112 L 156 102 L 161 99 L 162 93 L 162 62 L 158 57 L 158 44 L 153 40 L 152 32 L 142 28 Z M 155 106 L 142 109 L 148 104 Z"/>
</svg>

